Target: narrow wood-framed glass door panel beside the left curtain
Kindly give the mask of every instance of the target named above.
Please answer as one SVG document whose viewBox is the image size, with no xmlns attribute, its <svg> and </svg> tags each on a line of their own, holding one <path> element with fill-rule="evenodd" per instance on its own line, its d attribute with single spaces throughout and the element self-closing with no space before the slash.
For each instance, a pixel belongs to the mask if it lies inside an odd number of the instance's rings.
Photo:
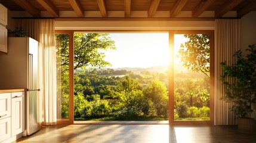
<svg viewBox="0 0 256 143">
<path fill-rule="evenodd" d="M 56 32 L 57 123 L 73 123 L 73 32 Z"/>
</svg>

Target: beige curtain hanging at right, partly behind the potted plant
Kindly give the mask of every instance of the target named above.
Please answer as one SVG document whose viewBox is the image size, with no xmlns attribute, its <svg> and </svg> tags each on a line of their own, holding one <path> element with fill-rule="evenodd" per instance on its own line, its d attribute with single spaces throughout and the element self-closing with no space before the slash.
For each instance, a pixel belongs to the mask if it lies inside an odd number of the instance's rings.
<svg viewBox="0 0 256 143">
<path fill-rule="evenodd" d="M 231 104 L 221 101 L 224 86 L 220 81 L 221 61 L 234 63 L 233 54 L 240 49 L 240 20 L 215 20 L 215 105 L 214 125 L 235 125 L 235 115 L 229 110 Z"/>
</svg>

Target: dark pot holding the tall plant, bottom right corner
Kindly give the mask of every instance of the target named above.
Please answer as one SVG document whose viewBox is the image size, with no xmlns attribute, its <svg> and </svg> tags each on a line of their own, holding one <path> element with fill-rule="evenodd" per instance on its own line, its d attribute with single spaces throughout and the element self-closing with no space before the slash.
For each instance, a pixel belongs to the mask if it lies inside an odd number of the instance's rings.
<svg viewBox="0 0 256 143">
<path fill-rule="evenodd" d="M 243 133 L 256 133 L 256 121 L 254 119 L 238 118 L 238 131 Z"/>
</svg>

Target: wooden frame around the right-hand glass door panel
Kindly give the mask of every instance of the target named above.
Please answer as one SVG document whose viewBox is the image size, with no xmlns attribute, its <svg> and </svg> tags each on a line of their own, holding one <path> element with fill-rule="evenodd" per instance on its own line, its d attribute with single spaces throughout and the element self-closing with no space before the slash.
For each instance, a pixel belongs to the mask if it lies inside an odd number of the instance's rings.
<svg viewBox="0 0 256 143">
<path fill-rule="evenodd" d="M 174 120 L 174 35 L 175 34 L 209 34 L 210 35 L 210 120 L 181 121 Z M 169 69 L 169 125 L 214 125 L 214 30 L 170 30 L 170 69 Z"/>
</svg>

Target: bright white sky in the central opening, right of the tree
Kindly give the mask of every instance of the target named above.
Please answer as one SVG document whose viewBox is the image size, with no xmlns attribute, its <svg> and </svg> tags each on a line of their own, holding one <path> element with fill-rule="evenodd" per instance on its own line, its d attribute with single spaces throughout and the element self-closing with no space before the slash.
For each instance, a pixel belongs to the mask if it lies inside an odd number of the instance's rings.
<svg viewBox="0 0 256 143">
<path fill-rule="evenodd" d="M 104 60 L 119 67 L 168 66 L 168 33 L 110 33 L 116 50 L 105 51 Z"/>
</svg>

